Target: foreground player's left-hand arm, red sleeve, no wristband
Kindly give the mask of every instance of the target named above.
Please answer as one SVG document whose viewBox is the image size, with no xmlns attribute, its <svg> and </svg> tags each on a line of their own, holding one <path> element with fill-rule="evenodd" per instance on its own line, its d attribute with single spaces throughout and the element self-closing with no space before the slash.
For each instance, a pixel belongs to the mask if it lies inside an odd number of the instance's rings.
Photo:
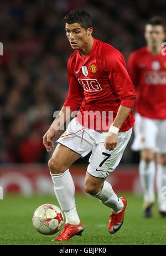
<svg viewBox="0 0 166 256">
<path fill-rule="evenodd" d="M 54 138 L 60 127 L 64 126 L 65 122 L 70 119 L 72 112 L 77 110 L 81 105 L 82 99 L 84 99 L 84 90 L 77 81 L 77 79 L 72 76 L 68 68 L 68 78 L 69 78 L 69 93 L 65 100 L 65 103 L 59 113 L 56 116 L 53 124 L 51 124 L 49 130 L 43 136 L 43 144 L 46 150 L 49 152 L 54 147 Z"/>
</svg>

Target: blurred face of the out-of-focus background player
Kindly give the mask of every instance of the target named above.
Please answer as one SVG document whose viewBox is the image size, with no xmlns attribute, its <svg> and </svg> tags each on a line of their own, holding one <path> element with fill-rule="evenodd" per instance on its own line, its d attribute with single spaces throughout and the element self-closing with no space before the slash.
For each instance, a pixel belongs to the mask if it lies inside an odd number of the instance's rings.
<svg viewBox="0 0 166 256">
<path fill-rule="evenodd" d="M 145 38 L 148 45 L 160 46 L 164 39 L 165 33 L 162 25 L 146 25 Z"/>
</svg>

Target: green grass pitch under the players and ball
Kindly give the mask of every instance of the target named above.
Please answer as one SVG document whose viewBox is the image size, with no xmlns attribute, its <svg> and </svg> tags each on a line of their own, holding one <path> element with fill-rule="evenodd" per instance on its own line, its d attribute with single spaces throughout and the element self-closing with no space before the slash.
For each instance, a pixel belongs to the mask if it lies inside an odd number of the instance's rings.
<svg viewBox="0 0 166 256">
<path fill-rule="evenodd" d="M 107 231 L 109 208 L 96 198 L 86 194 L 76 194 L 77 211 L 84 226 L 82 236 L 72 237 L 60 245 L 111 245 L 111 244 L 166 244 L 166 219 L 159 218 L 157 206 L 154 216 L 142 217 L 142 197 L 121 193 L 128 200 L 125 221 L 120 231 L 109 234 Z M 44 203 L 58 206 L 54 197 L 49 196 L 4 196 L 0 200 L 0 244 L 55 244 L 54 235 L 42 235 L 35 231 L 32 216 L 35 209 Z"/>
</svg>

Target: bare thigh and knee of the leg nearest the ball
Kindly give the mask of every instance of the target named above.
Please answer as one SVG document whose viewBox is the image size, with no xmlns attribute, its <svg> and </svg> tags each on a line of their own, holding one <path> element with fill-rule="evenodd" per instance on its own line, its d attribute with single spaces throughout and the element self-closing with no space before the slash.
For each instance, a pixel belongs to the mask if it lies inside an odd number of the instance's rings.
<svg viewBox="0 0 166 256">
<path fill-rule="evenodd" d="M 49 160 L 49 168 L 51 173 L 61 173 L 72 165 L 81 156 L 69 149 L 68 147 L 58 144 L 53 152 L 53 156 Z"/>
</svg>

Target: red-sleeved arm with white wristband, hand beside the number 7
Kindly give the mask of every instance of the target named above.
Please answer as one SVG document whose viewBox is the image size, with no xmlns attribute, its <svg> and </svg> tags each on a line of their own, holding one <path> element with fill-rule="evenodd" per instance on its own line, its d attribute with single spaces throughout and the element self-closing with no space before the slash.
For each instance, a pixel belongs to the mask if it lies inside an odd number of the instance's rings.
<svg viewBox="0 0 166 256">
<path fill-rule="evenodd" d="M 109 78 L 121 100 L 121 105 L 105 140 L 106 149 L 113 150 L 117 146 L 118 131 L 127 119 L 136 100 L 136 91 L 127 73 L 125 59 L 122 55 L 118 55 L 110 65 Z"/>
</svg>

